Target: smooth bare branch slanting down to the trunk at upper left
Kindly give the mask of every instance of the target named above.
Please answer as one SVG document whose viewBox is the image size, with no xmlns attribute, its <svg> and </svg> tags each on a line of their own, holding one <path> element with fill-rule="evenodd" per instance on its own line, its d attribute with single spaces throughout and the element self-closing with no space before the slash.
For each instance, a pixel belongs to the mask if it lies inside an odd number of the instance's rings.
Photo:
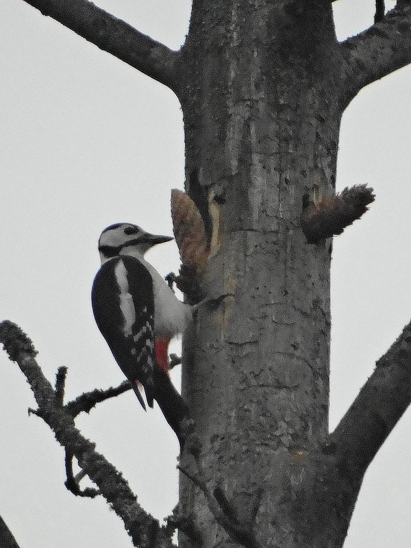
<svg viewBox="0 0 411 548">
<path fill-rule="evenodd" d="M 25 0 L 43 15 L 73 30 L 100 49 L 174 89 L 178 53 L 87 0 Z"/>
</svg>

